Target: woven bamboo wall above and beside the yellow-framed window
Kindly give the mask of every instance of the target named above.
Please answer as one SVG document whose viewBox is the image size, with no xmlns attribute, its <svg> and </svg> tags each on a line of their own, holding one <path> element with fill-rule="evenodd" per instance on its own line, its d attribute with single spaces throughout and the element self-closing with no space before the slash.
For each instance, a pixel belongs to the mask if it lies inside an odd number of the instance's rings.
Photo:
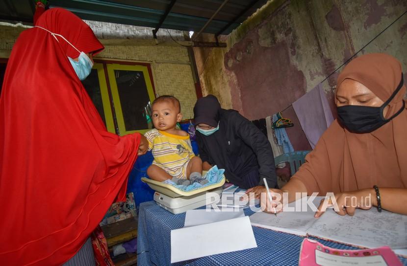
<svg viewBox="0 0 407 266">
<path fill-rule="evenodd" d="M 89 22 L 101 39 L 151 39 L 152 28 L 135 27 L 105 22 Z M 23 27 L 0 25 L 0 50 L 11 51 Z M 181 31 L 169 30 L 171 35 L 182 40 Z M 160 29 L 158 37 L 168 38 L 168 32 Z M 192 118 L 197 100 L 188 51 L 183 46 L 115 46 L 106 45 L 97 57 L 114 60 L 141 61 L 152 64 L 153 82 L 157 95 L 170 94 L 181 103 L 185 119 Z"/>
</svg>

